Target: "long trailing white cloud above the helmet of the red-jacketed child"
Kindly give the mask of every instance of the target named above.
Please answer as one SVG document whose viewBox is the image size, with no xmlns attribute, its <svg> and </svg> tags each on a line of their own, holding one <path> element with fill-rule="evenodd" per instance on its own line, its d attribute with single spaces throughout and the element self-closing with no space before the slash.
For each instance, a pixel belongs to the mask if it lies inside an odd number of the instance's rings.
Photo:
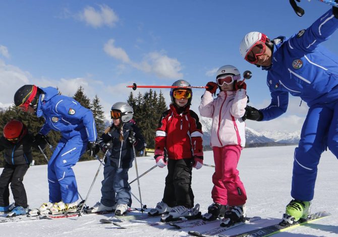
<svg viewBox="0 0 338 237">
<path fill-rule="evenodd" d="M 109 56 L 116 58 L 123 63 L 146 72 L 154 73 L 158 78 L 179 79 L 183 77 L 181 63 L 177 58 L 168 57 L 163 51 L 147 53 L 139 63 L 132 62 L 127 52 L 114 45 L 115 40 L 109 39 L 103 46 L 103 50 Z"/>
</svg>

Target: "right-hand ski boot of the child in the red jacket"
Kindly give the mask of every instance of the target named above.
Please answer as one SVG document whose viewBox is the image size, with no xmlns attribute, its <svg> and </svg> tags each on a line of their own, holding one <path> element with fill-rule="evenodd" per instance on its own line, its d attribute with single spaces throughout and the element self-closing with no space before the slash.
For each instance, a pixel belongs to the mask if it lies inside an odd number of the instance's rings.
<svg viewBox="0 0 338 237">
<path fill-rule="evenodd" d="M 176 221 L 180 218 L 196 219 L 201 218 L 201 212 L 199 211 L 199 204 L 196 204 L 193 208 L 187 208 L 185 206 L 173 207 L 172 210 L 161 218 L 161 222 Z"/>
</svg>

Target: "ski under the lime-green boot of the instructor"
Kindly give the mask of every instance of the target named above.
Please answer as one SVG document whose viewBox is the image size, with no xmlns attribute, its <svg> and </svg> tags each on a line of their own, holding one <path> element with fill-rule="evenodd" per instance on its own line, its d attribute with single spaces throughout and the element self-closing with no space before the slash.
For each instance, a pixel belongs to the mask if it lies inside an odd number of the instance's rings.
<svg viewBox="0 0 338 237">
<path fill-rule="evenodd" d="M 272 234 L 275 234 L 275 233 L 279 233 L 279 232 L 283 232 L 283 231 L 288 231 L 292 228 L 296 228 L 298 226 L 301 226 L 303 224 L 306 224 L 306 223 L 310 223 L 312 221 L 315 221 L 315 220 L 318 220 L 318 219 L 321 219 L 321 218 L 324 218 L 324 217 L 327 217 L 327 216 L 330 216 L 331 213 L 328 213 L 328 212 L 324 212 L 324 211 L 320 211 L 320 212 L 316 212 L 314 214 L 311 214 L 307 220 L 303 221 L 303 222 L 297 222 L 297 223 L 294 223 L 294 224 L 289 224 L 289 225 L 280 225 L 280 224 L 274 224 L 274 225 L 269 225 L 269 226 L 266 226 L 266 227 L 262 227 L 262 228 L 258 228 L 258 229 L 254 229 L 254 230 L 251 230 L 251 231 L 247 231 L 247 232 L 244 232 L 244 233 L 240 233 L 240 234 L 235 234 L 235 235 L 232 235 L 231 237 L 251 237 L 251 236 L 255 236 L 255 237 L 263 237 L 263 236 L 269 236 L 269 235 L 272 235 Z M 223 235 L 223 234 L 218 234 L 218 236 L 220 237 L 224 237 L 226 235 Z"/>
</svg>

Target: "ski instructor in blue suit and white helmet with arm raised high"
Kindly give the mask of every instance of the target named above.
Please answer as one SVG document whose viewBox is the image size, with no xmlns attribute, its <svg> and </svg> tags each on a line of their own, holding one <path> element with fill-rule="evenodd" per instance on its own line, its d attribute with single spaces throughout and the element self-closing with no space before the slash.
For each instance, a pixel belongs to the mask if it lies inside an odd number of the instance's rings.
<svg viewBox="0 0 338 237">
<path fill-rule="evenodd" d="M 309 28 L 290 38 L 270 40 L 250 32 L 240 44 L 242 56 L 267 71 L 271 103 L 246 107 L 243 120 L 268 121 L 285 113 L 289 93 L 299 96 L 309 111 L 295 149 L 291 196 L 283 221 L 307 218 L 314 196 L 317 166 L 328 147 L 338 157 L 338 56 L 320 45 L 338 28 L 338 8 L 332 7 Z"/>
</svg>

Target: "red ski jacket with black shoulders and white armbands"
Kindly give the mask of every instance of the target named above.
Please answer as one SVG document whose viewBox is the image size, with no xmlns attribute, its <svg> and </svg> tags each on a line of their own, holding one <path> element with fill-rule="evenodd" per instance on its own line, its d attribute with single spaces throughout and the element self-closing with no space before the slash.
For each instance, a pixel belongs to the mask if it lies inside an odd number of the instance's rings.
<svg viewBox="0 0 338 237">
<path fill-rule="evenodd" d="M 198 156 L 203 159 L 202 125 L 197 114 L 187 106 L 179 113 L 177 106 L 163 112 L 155 137 L 155 155 L 163 154 L 169 159 L 185 159 Z"/>
</svg>

